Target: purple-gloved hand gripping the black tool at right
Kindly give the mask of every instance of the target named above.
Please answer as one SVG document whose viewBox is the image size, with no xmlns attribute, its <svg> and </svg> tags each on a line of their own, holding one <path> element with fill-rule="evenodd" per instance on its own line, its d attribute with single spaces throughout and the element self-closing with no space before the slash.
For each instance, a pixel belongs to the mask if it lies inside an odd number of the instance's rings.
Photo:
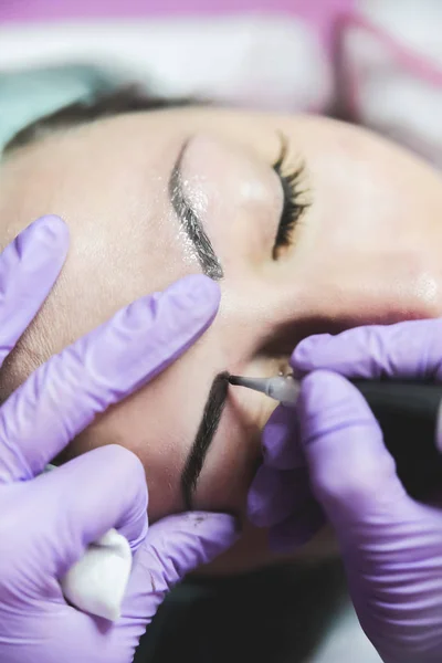
<svg viewBox="0 0 442 663">
<path fill-rule="evenodd" d="M 441 381 L 442 320 L 311 337 L 292 364 L 309 373 L 294 442 L 337 534 L 364 630 L 387 663 L 442 661 L 442 509 L 408 496 L 367 402 L 337 375 Z M 442 431 L 436 443 L 442 451 Z"/>
</svg>

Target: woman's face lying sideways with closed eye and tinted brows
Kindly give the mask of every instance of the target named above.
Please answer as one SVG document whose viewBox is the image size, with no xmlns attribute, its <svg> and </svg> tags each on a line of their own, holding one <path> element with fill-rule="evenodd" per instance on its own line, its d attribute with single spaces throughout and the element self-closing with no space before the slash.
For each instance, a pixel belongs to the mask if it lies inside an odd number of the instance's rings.
<svg viewBox="0 0 442 663">
<path fill-rule="evenodd" d="M 281 134 L 283 183 L 272 168 Z M 285 176 L 302 164 L 293 190 Z M 2 167 L 1 239 L 44 213 L 66 220 L 72 248 L 24 338 L 15 380 L 131 299 L 188 273 L 223 274 L 207 334 L 71 449 L 131 449 L 146 469 L 151 519 L 185 508 L 181 474 L 220 372 L 276 375 L 308 334 L 442 313 L 440 177 L 337 122 L 189 108 L 53 135 Z M 244 515 L 274 407 L 229 389 L 218 430 L 203 435 L 196 490 L 187 491 L 194 508 Z M 253 536 L 239 545 L 248 564 L 267 558 L 263 536 L 260 545 Z"/>
</svg>

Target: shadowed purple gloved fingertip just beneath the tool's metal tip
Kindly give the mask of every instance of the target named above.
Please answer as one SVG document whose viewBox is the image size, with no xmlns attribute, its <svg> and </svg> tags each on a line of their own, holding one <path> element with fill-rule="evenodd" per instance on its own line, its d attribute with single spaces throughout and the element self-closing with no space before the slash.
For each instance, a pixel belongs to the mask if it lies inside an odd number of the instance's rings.
<svg viewBox="0 0 442 663">
<path fill-rule="evenodd" d="M 305 466 L 294 408 L 278 406 L 272 412 L 262 434 L 262 450 L 264 464 L 276 470 Z"/>
</svg>

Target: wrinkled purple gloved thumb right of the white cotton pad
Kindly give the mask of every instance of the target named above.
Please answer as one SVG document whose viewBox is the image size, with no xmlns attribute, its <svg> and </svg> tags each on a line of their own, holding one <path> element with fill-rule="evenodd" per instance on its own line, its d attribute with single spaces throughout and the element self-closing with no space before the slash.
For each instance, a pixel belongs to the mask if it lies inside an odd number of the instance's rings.
<svg viewBox="0 0 442 663">
<path fill-rule="evenodd" d="M 135 556 L 126 593 L 125 602 L 130 606 L 130 612 L 150 622 L 177 582 L 230 548 L 238 536 L 236 520 L 225 514 L 186 513 L 149 527 Z"/>
</svg>

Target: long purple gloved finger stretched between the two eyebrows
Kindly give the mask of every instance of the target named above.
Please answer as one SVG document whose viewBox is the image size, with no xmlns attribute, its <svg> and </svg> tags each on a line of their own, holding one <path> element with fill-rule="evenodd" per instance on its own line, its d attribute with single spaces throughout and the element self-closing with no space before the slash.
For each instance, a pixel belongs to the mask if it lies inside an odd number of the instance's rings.
<svg viewBox="0 0 442 663">
<path fill-rule="evenodd" d="M 98 412 L 151 380 L 212 322 L 219 286 L 202 275 L 143 297 L 40 367 L 0 411 L 0 482 L 44 466 Z"/>
</svg>

